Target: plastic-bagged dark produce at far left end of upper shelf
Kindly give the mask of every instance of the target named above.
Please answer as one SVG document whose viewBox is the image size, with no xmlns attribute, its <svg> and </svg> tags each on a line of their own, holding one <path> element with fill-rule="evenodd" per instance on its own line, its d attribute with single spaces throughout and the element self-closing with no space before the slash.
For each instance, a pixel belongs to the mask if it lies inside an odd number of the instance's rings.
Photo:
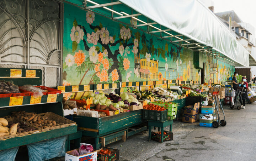
<svg viewBox="0 0 256 161">
<path fill-rule="evenodd" d="M 0 93 L 20 93 L 20 90 L 17 85 L 13 84 L 13 81 L 0 81 Z"/>
</svg>

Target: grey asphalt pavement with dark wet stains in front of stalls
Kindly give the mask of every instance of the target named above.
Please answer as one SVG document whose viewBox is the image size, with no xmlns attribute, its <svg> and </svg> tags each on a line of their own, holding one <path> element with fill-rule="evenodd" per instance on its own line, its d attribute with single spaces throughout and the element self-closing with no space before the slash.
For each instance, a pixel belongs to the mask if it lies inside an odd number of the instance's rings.
<svg viewBox="0 0 256 161">
<path fill-rule="evenodd" d="M 148 142 L 146 133 L 108 146 L 120 150 L 121 161 L 256 160 L 256 103 L 241 110 L 224 107 L 224 112 L 225 127 L 200 127 L 199 122 L 174 121 L 172 141 Z"/>
</svg>

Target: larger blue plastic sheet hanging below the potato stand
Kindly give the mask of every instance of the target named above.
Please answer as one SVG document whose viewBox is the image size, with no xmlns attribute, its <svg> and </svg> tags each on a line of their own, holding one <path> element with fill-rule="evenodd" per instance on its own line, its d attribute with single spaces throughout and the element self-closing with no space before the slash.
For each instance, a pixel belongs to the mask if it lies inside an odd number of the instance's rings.
<svg viewBox="0 0 256 161">
<path fill-rule="evenodd" d="M 65 156 L 65 142 L 68 136 L 48 139 L 42 142 L 28 144 L 30 161 L 44 161 L 51 158 Z"/>
</svg>

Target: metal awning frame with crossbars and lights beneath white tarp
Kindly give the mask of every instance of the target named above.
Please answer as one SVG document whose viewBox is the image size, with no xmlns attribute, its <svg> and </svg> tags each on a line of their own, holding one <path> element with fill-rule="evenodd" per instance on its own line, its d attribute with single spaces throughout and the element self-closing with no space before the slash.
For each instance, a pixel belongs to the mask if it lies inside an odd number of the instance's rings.
<svg viewBox="0 0 256 161">
<path fill-rule="evenodd" d="M 65 1 L 65 0 L 64 0 L 64 2 L 74 5 L 73 3 Z M 212 48 L 210 46 L 206 46 L 206 44 L 202 44 L 202 43 L 196 42 L 196 41 L 194 41 L 194 40 L 192 40 L 192 39 L 190 39 L 190 38 L 188 38 L 188 37 L 186 37 L 186 36 L 184 36 L 184 35 L 182 35 L 180 33 L 172 31 L 169 28 L 165 28 L 164 26 L 162 26 L 162 25 L 160 25 L 160 24 L 158 24 L 158 23 L 156 23 L 156 22 L 154 22 L 152 20 L 150 20 L 151 21 L 150 22 L 149 21 L 150 17 L 145 17 L 144 15 L 142 15 L 140 13 L 135 13 L 134 14 L 133 12 L 135 12 L 135 11 L 133 10 L 133 8 L 130 8 L 129 6 L 123 4 L 122 2 L 115 1 L 115 2 L 106 3 L 106 4 L 97 4 L 93 0 L 84 0 L 83 4 L 84 4 L 84 7 L 81 7 L 81 5 L 76 5 L 76 6 L 79 7 L 79 8 L 82 8 L 84 10 L 87 10 L 87 11 L 90 11 L 90 12 L 94 12 L 94 13 L 96 13 L 98 15 L 103 16 L 103 17 L 112 19 L 113 21 L 117 21 L 119 23 L 126 24 L 126 25 L 128 25 L 130 27 L 136 28 L 136 29 L 138 29 L 140 31 L 143 31 L 143 32 L 148 33 L 148 34 L 151 34 L 151 35 L 156 36 L 158 38 L 161 38 L 163 40 L 169 41 L 172 44 L 183 46 L 183 47 L 188 48 L 188 49 L 190 49 L 192 51 L 200 51 L 200 52 L 203 52 L 203 53 L 208 53 L 209 51 L 206 50 L 206 49 Z M 88 6 L 88 4 L 93 4 L 93 5 Z M 128 13 L 125 13 L 123 11 L 120 11 L 120 12 L 115 11 L 115 10 L 113 10 L 113 6 L 114 5 L 124 5 L 126 7 L 129 7 L 131 9 L 131 13 L 128 14 Z M 111 8 L 108 8 L 107 6 L 108 7 L 110 6 Z M 106 14 L 103 14 L 101 11 L 99 11 L 101 8 L 104 8 L 104 9 L 110 11 L 111 12 L 111 16 L 107 16 Z M 117 14 L 117 15 L 120 15 L 120 16 L 114 17 L 114 14 Z M 144 16 L 144 19 L 146 18 L 147 22 L 142 21 L 142 20 L 140 20 L 139 18 L 137 18 L 135 16 L 137 16 L 137 17 Z M 133 25 L 133 24 L 122 22 L 121 20 L 124 19 L 124 18 L 137 19 L 137 22 L 140 22 L 140 24 Z M 160 25 L 160 28 L 156 27 L 155 25 Z M 145 30 L 145 29 L 143 29 L 141 27 L 147 27 L 147 30 Z M 152 28 L 152 31 L 149 31 L 149 27 Z M 153 31 L 153 29 L 154 29 L 154 31 Z M 169 32 L 167 32 L 167 31 L 169 31 Z M 160 35 L 157 35 L 158 33 L 160 33 Z M 167 34 L 167 35 L 165 36 L 163 34 Z M 200 47 L 202 47 L 202 49 L 198 49 Z M 221 60 L 221 61 L 223 61 L 225 63 L 228 63 L 230 65 L 234 65 L 234 66 L 244 66 L 244 65 L 236 62 L 235 60 L 232 60 L 229 57 L 224 56 L 224 54 L 220 53 L 219 51 L 214 51 L 214 52 L 216 52 L 216 56 L 215 57 L 217 58 L 217 60 L 219 59 L 219 60 Z M 208 56 L 210 56 L 210 55 L 208 54 Z M 256 66 L 256 60 L 250 55 L 250 65 L 251 64 Z"/>
</svg>

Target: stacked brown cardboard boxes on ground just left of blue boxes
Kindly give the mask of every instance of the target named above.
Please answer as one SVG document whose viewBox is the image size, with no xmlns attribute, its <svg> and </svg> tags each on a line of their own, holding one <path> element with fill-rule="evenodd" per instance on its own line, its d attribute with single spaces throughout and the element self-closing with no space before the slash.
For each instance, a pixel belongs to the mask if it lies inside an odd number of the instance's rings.
<svg viewBox="0 0 256 161">
<path fill-rule="evenodd" d="M 185 106 L 182 116 L 182 122 L 194 123 L 199 119 L 200 102 L 195 103 L 193 106 Z"/>
</svg>

